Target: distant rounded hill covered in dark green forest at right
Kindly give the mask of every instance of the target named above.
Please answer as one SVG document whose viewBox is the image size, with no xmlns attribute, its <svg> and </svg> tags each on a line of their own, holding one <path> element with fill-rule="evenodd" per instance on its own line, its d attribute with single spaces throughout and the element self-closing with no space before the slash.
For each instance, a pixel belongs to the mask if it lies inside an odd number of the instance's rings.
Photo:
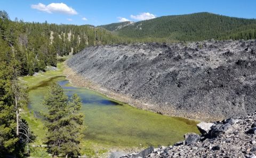
<svg viewBox="0 0 256 158">
<path fill-rule="evenodd" d="M 110 27 L 105 27 L 108 30 Z M 256 20 L 232 18 L 212 13 L 161 16 L 139 21 L 118 30 L 118 35 L 130 38 L 166 41 L 207 39 L 255 39 Z"/>
</svg>

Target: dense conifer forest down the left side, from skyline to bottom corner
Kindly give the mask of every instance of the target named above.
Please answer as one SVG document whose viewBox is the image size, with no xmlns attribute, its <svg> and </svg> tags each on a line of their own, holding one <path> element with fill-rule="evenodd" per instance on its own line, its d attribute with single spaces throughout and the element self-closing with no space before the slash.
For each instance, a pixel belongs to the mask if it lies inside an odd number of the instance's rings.
<svg viewBox="0 0 256 158">
<path fill-rule="evenodd" d="M 0 157 L 23 157 L 26 144 L 33 139 L 28 136 L 26 121 L 19 117 L 28 101 L 27 88 L 19 76 L 56 66 L 58 55 L 75 54 L 87 46 L 116 44 L 122 39 L 93 26 L 11 21 L 0 11 Z"/>
</svg>

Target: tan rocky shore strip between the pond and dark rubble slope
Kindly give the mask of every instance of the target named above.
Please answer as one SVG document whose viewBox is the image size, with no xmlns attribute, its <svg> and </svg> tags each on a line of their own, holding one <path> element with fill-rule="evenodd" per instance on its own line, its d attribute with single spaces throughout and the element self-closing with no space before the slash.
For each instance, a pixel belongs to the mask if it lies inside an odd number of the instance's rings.
<svg viewBox="0 0 256 158">
<path fill-rule="evenodd" d="M 65 69 L 63 70 L 63 74 L 67 77 L 68 80 L 70 80 L 70 83 L 73 84 L 74 86 L 89 88 L 103 95 L 106 95 L 109 98 L 113 98 L 117 101 L 124 102 L 138 109 L 167 115 L 169 117 L 177 117 L 178 119 L 186 118 L 194 121 L 202 120 L 202 118 L 203 120 L 212 120 L 212 118 L 207 117 L 204 113 L 198 112 L 197 114 L 193 113 L 190 115 L 189 113 L 186 113 L 186 112 L 177 111 L 170 106 L 169 107 L 161 106 L 159 104 L 153 104 L 153 103 L 150 104 L 148 103 L 148 101 L 144 99 L 134 99 L 129 95 L 116 93 L 114 90 L 104 88 L 99 84 L 95 84 L 95 82 L 93 82 L 92 80 L 86 79 L 85 77 L 81 76 L 80 74 L 75 72 L 72 68 L 70 68 L 66 64 L 66 62 L 64 66 L 65 66 Z"/>
</svg>

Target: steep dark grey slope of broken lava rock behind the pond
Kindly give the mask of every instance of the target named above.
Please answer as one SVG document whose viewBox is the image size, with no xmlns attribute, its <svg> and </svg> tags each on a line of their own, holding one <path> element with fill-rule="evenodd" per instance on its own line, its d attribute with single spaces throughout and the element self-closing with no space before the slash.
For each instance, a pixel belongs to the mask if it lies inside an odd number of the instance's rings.
<svg viewBox="0 0 256 158">
<path fill-rule="evenodd" d="M 67 65 L 143 109 L 220 120 L 256 110 L 255 56 L 255 40 L 116 45 L 86 48 Z"/>
</svg>

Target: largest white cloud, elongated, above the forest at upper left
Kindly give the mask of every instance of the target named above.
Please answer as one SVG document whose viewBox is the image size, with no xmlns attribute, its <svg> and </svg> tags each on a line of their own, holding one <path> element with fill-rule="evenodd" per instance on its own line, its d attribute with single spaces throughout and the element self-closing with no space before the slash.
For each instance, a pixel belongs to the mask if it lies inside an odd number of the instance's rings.
<svg viewBox="0 0 256 158">
<path fill-rule="evenodd" d="M 70 14 L 70 15 L 78 14 L 76 10 L 74 10 L 70 6 L 67 6 L 65 3 L 51 3 L 49 5 L 38 3 L 38 4 L 32 4 L 31 8 L 39 11 L 43 11 L 46 13 L 63 13 L 63 14 Z"/>
</svg>

